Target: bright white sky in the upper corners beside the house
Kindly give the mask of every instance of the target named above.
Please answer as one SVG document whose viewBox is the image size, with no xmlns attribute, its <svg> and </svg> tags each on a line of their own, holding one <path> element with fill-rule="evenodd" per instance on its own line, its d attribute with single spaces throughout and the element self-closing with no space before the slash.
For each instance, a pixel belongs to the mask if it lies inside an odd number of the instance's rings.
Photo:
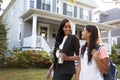
<svg viewBox="0 0 120 80">
<path fill-rule="evenodd" d="M 3 0 L 2 9 L 5 9 L 10 1 L 11 0 Z M 102 0 L 94 0 L 94 1 L 98 5 L 99 7 L 98 9 L 103 10 L 103 11 L 115 7 L 115 3 L 105 3 L 105 2 L 102 2 Z M 112 1 L 112 0 L 104 0 L 104 1 Z"/>
</svg>

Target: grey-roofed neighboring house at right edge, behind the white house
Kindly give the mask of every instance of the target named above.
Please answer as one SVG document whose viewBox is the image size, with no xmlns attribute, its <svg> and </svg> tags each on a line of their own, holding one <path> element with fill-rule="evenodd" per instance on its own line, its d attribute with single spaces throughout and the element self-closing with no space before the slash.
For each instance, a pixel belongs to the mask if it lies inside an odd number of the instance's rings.
<svg viewBox="0 0 120 80">
<path fill-rule="evenodd" d="M 114 29 L 111 30 L 111 43 L 112 45 L 120 43 L 120 8 L 113 8 L 105 12 L 97 11 L 94 19 L 96 22 L 114 26 Z M 102 33 L 104 42 L 107 42 L 107 34 L 107 31 Z"/>
</svg>

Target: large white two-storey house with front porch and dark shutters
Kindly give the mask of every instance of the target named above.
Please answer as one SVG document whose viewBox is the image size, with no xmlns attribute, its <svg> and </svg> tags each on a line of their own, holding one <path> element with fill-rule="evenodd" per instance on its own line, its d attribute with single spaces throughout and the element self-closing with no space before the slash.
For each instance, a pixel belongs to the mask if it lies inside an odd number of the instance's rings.
<svg viewBox="0 0 120 80">
<path fill-rule="evenodd" d="M 101 30 L 112 29 L 109 25 L 92 22 L 95 8 L 93 0 L 77 0 L 76 3 L 68 0 L 11 0 L 2 14 L 3 23 L 10 28 L 8 49 L 44 49 L 50 52 L 64 18 L 73 22 L 72 34 L 80 40 L 86 24 L 98 25 Z"/>
</svg>

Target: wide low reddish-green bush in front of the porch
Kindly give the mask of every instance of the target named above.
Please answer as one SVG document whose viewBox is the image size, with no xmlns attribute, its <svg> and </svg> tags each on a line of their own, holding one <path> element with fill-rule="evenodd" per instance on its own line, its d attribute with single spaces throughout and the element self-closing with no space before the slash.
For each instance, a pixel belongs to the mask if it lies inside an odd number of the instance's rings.
<svg viewBox="0 0 120 80">
<path fill-rule="evenodd" d="M 52 64 L 53 56 L 45 51 L 27 50 L 10 51 L 12 57 L 6 58 L 9 67 L 17 68 L 48 68 Z"/>
</svg>

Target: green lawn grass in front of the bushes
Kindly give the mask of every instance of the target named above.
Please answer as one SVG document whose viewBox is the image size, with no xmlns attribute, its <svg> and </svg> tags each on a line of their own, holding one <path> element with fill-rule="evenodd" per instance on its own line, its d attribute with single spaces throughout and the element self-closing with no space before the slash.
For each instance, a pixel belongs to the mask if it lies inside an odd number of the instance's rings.
<svg viewBox="0 0 120 80">
<path fill-rule="evenodd" d="M 120 78 L 120 65 L 117 65 Z M 0 80 L 45 80 L 47 69 L 0 69 Z"/>
</svg>

